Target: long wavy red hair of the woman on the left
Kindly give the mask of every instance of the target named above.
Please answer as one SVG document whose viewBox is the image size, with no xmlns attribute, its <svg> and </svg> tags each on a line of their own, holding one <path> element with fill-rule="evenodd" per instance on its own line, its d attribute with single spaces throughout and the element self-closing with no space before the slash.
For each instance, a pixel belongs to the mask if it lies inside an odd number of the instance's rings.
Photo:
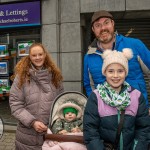
<svg viewBox="0 0 150 150">
<path fill-rule="evenodd" d="M 52 60 L 50 54 L 48 51 L 45 49 L 45 47 L 41 43 L 33 43 L 30 48 L 29 48 L 29 55 L 30 51 L 32 50 L 33 47 L 39 46 L 43 49 L 43 51 L 46 53 L 46 58 L 44 61 L 44 68 L 47 68 L 49 72 L 52 73 L 52 83 L 53 85 L 57 88 L 60 85 L 60 82 L 63 80 L 62 74 L 60 69 L 55 65 L 54 61 Z M 31 60 L 30 56 L 25 56 L 21 58 L 21 60 L 17 63 L 15 67 L 15 73 L 12 76 L 12 79 L 16 75 L 19 76 L 19 88 L 26 82 L 30 81 L 30 75 L 29 75 L 29 69 L 31 68 Z"/>
</svg>

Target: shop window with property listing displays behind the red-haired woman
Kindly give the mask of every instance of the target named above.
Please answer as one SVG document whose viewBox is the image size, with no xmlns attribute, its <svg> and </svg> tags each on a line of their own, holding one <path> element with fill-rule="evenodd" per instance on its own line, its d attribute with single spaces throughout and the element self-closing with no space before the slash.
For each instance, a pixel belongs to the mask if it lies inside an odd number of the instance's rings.
<svg viewBox="0 0 150 150">
<path fill-rule="evenodd" d="M 33 42 L 41 41 L 40 37 L 40 28 L 0 31 L 0 99 L 9 96 L 16 63 L 28 55 Z"/>
</svg>

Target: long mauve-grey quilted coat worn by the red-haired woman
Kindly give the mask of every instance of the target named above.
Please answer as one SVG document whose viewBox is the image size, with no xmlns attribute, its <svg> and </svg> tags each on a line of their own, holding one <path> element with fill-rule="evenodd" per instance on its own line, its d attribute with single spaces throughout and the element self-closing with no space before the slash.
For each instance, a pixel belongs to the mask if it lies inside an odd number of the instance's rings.
<svg viewBox="0 0 150 150">
<path fill-rule="evenodd" d="M 10 90 L 9 103 L 12 115 L 19 120 L 16 131 L 17 150 L 40 150 L 43 134 L 31 126 L 38 120 L 48 126 L 50 108 L 55 97 L 63 92 L 63 87 L 56 89 L 51 83 L 52 75 L 48 70 L 30 69 L 30 83 L 18 88 L 18 77 Z"/>
</svg>

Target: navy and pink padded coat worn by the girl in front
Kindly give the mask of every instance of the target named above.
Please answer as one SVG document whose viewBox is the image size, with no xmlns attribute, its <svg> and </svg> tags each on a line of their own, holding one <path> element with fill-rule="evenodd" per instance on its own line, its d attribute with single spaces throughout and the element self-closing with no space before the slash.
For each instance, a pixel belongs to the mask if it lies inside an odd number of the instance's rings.
<svg viewBox="0 0 150 150">
<path fill-rule="evenodd" d="M 150 130 L 148 108 L 140 91 L 130 89 L 129 93 L 131 104 L 126 108 L 122 129 L 123 150 L 147 150 Z M 92 92 L 83 120 L 84 140 L 88 150 L 103 150 L 102 140 L 114 143 L 119 116 L 115 107 L 101 100 L 97 90 Z"/>
</svg>

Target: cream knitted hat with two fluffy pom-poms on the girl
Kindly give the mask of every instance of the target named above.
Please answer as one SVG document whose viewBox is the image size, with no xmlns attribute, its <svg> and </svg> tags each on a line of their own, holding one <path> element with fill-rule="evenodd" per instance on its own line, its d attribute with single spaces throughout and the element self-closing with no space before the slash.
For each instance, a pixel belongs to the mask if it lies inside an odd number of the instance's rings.
<svg viewBox="0 0 150 150">
<path fill-rule="evenodd" d="M 105 50 L 102 54 L 103 66 L 102 66 L 102 74 L 105 75 L 106 68 L 110 64 L 120 64 L 125 68 L 126 76 L 128 75 L 128 60 L 133 57 L 132 50 L 130 48 L 124 48 L 122 52 L 117 50 Z"/>
</svg>

